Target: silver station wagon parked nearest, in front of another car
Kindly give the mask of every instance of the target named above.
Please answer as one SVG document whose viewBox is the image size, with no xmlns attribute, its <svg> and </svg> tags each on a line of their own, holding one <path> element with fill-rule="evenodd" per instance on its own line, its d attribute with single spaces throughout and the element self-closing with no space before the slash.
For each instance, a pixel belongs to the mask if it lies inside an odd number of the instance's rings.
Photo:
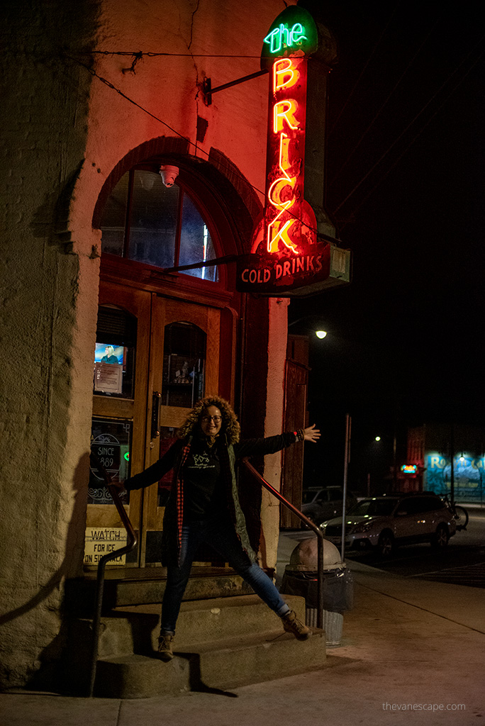
<svg viewBox="0 0 485 726">
<path fill-rule="evenodd" d="M 341 547 L 342 518 L 320 525 L 325 539 Z M 446 547 L 456 523 L 446 503 L 436 494 L 390 494 L 362 499 L 346 516 L 346 547 L 375 549 L 388 556 L 399 544 L 431 542 Z"/>
</svg>

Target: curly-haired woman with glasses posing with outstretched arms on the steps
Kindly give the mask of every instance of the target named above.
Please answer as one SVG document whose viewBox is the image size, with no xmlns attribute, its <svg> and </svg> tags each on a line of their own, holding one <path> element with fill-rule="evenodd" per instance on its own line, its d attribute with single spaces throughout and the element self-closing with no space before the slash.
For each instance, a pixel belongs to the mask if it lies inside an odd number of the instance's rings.
<svg viewBox="0 0 485 726">
<path fill-rule="evenodd" d="M 163 518 L 162 563 L 167 566 L 158 653 L 174 657 L 176 621 L 198 545 L 208 542 L 243 576 L 282 619 L 298 640 L 311 631 L 282 600 L 271 579 L 256 563 L 237 496 L 235 462 L 243 457 L 274 454 L 297 441 L 317 441 L 315 426 L 266 439 L 239 440 L 240 425 L 232 407 L 208 396 L 198 401 L 176 441 L 155 464 L 127 479 L 125 489 L 142 489 L 174 469 L 174 484 Z"/>
</svg>

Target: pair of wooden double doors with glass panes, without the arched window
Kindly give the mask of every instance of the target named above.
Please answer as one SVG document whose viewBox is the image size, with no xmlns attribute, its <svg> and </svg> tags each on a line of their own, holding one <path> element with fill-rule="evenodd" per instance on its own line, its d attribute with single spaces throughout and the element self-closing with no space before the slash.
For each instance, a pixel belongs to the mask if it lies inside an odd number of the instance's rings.
<svg viewBox="0 0 485 726">
<path fill-rule="evenodd" d="M 193 404 L 219 391 L 220 312 L 102 282 L 94 364 L 91 450 L 123 480 L 156 462 Z M 125 495 L 139 545 L 112 566 L 157 566 L 171 475 Z M 85 566 L 123 544 L 101 473 L 91 464 Z M 114 545 L 114 547 L 113 547 Z"/>
</svg>

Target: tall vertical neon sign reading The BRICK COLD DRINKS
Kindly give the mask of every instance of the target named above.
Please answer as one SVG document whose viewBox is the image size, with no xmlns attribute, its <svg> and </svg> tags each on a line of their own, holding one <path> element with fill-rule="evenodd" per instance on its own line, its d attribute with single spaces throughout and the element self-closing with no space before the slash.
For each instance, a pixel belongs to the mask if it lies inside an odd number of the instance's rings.
<svg viewBox="0 0 485 726">
<path fill-rule="evenodd" d="M 306 66 L 317 47 L 317 26 L 298 7 L 278 15 L 264 38 L 262 62 L 269 68 L 265 204 L 250 255 L 237 266 L 237 289 L 244 292 L 309 294 L 330 275 L 330 243 L 317 242 L 317 220 L 303 197 Z"/>
</svg>

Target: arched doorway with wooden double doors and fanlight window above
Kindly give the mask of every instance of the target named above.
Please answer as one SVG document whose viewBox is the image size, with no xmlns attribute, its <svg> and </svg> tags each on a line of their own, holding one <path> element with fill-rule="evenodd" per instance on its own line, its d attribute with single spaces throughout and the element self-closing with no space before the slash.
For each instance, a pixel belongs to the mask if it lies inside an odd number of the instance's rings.
<svg viewBox="0 0 485 726">
<path fill-rule="evenodd" d="M 174 160 L 169 160 L 174 164 Z M 168 162 L 166 162 L 168 163 Z M 113 477 L 158 460 L 197 399 L 219 393 L 234 402 L 239 301 L 231 274 L 217 266 L 164 272 L 231 253 L 232 224 L 189 165 L 172 187 L 160 160 L 127 168 L 99 210 L 102 264 L 94 353 L 91 448 Z M 224 229 L 224 244 L 220 229 Z M 131 492 L 124 502 L 139 546 L 113 567 L 158 566 L 170 478 Z M 124 532 L 109 494 L 91 468 L 85 566 Z M 203 561 L 207 561 L 204 558 Z"/>
</svg>

